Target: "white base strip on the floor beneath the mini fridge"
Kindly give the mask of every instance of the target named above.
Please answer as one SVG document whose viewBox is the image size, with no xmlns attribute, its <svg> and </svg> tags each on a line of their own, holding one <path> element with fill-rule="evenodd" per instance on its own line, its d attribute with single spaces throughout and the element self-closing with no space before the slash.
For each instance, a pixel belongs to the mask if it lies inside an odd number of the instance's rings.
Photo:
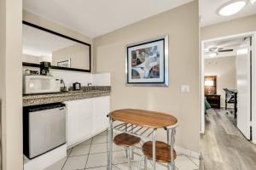
<svg viewBox="0 0 256 170">
<path fill-rule="evenodd" d="M 24 156 L 24 170 L 43 170 L 66 156 L 67 144 L 63 144 L 55 150 L 50 150 L 44 155 L 38 156 L 32 160 L 29 160 Z"/>
</svg>

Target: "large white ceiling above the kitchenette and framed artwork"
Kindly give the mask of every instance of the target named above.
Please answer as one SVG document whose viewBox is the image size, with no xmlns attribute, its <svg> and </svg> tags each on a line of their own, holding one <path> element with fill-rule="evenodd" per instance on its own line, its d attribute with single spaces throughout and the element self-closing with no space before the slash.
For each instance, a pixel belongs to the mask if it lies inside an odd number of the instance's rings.
<svg viewBox="0 0 256 170">
<path fill-rule="evenodd" d="M 191 1 L 23 0 L 23 8 L 88 37 L 98 37 Z"/>
</svg>

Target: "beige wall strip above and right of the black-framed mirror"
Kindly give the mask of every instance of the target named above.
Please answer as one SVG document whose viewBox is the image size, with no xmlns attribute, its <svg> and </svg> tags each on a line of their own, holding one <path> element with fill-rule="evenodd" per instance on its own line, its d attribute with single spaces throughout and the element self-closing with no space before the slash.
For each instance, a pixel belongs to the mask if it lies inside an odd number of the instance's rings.
<svg viewBox="0 0 256 170">
<path fill-rule="evenodd" d="M 42 26 L 44 28 L 47 28 L 49 30 L 52 31 L 56 31 L 58 33 L 61 33 L 63 35 L 66 35 L 68 37 L 73 37 L 75 39 L 78 39 L 82 42 L 87 42 L 91 44 L 91 48 L 93 48 L 92 46 L 92 39 L 90 37 L 86 37 L 83 34 L 77 32 L 77 31 L 73 31 L 67 27 L 61 26 L 56 24 L 55 22 L 46 20 L 36 14 L 32 14 L 27 12 L 26 10 L 23 10 L 23 20 L 26 20 L 27 22 L 30 22 L 34 25 L 37 26 Z M 91 56 L 93 56 L 93 54 L 91 54 Z M 92 71 L 95 71 L 95 69 L 93 68 L 93 57 L 91 57 L 91 66 L 92 66 Z"/>
</svg>

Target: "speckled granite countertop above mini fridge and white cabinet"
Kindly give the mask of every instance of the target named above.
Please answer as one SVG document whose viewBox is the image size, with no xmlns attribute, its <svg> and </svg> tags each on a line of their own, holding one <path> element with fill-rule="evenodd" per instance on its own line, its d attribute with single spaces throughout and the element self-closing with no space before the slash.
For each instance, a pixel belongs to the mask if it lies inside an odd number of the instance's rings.
<svg viewBox="0 0 256 170">
<path fill-rule="evenodd" d="M 23 95 L 23 106 L 44 105 L 71 101 L 76 99 L 88 99 L 110 95 L 110 86 L 82 87 L 81 90 L 71 90 L 69 92 L 60 92 L 55 94 L 27 94 Z"/>
</svg>

